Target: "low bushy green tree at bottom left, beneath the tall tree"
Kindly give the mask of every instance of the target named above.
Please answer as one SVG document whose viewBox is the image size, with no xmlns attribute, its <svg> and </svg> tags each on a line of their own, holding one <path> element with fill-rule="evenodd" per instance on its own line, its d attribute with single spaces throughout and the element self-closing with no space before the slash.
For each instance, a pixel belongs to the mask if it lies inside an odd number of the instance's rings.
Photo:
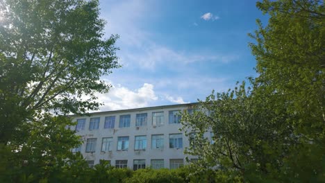
<svg viewBox="0 0 325 183">
<path fill-rule="evenodd" d="M 30 136 L 25 143 L 1 147 L 1 182 L 62 182 L 69 177 L 76 179 L 88 170 L 80 153 L 71 149 L 81 143 L 67 125 L 74 125 L 65 116 L 44 114 L 28 125 Z M 78 167 L 74 167 L 78 165 Z M 72 169 L 78 168 L 78 172 Z"/>
</svg>

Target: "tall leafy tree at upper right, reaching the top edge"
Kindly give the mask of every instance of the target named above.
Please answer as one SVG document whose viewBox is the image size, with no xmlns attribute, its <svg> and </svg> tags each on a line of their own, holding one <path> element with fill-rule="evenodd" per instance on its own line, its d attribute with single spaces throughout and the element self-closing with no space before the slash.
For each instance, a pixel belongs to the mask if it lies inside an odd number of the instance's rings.
<svg viewBox="0 0 325 183">
<path fill-rule="evenodd" d="M 251 35 L 257 78 L 263 87 L 287 101 L 288 112 L 301 119 L 297 133 L 308 139 L 324 136 L 325 7 L 322 1 L 263 1 L 271 17 Z M 292 122 L 295 123 L 295 122 Z M 311 125 L 313 124 L 313 125 Z"/>
</svg>

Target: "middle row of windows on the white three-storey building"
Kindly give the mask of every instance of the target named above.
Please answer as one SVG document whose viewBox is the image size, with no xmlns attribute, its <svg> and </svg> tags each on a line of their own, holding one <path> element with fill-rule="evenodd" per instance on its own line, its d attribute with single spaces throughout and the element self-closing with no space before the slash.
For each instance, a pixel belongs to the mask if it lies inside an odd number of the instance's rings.
<svg viewBox="0 0 325 183">
<path fill-rule="evenodd" d="M 128 150 L 129 137 L 117 137 L 117 150 Z M 94 153 L 96 150 L 97 138 L 87 139 L 85 152 Z M 82 145 L 81 145 L 82 146 Z M 73 152 L 81 152 L 81 146 L 74 148 Z M 164 148 L 164 135 L 153 134 L 151 135 L 151 149 Z M 182 134 L 169 134 L 169 148 L 183 148 L 183 135 Z M 147 149 L 147 136 L 135 136 L 134 150 Z M 105 137 L 101 141 L 101 151 L 113 150 L 113 137 Z"/>
</svg>

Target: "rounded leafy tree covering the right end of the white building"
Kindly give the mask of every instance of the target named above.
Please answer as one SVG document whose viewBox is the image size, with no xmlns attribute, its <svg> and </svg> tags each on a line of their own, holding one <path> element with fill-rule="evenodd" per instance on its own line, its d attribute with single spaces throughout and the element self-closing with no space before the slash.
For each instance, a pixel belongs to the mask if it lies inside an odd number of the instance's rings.
<svg viewBox="0 0 325 183">
<path fill-rule="evenodd" d="M 252 83 L 253 84 L 253 83 Z M 211 94 L 197 105 L 193 114 L 183 114 L 183 128 L 197 132 L 197 146 L 185 153 L 199 155 L 194 166 L 199 171 L 218 168 L 226 175 L 233 172 L 249 180 L 272 179 L 269 172 L 279 170 L 295 138 L 292 128 L 285 123 L 288 114 L 285 106 L 278 106 L 275 97 L 260 95 L 247 89 L 243 83 L 234 90 Z M 276 109 L 276 110 L 274 110 Z M 204 138 L 213 132 L 213 143 Z"/>
</svg>

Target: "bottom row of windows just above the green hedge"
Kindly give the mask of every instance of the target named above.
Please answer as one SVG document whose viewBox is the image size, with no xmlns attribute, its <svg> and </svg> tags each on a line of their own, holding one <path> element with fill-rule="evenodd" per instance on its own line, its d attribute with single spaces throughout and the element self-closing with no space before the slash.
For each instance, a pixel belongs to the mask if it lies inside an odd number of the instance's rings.
<svg viewBox="0 0 325 183">
<path fill-rule="evenodd" d="M 106 160 L 108 164 L 110 164 L 110 160 Z M 94 166 L 94 160 L 87 161 L 88 165 L 92 168 Z M 165 168 L 164 159 L 151 159 L 150 161 L 151 168 L 160 169 Z M 175 169 L 180 168 L 184 165 L 183 159 L 169 159 L 169 168 Z M 116 160 L 115 161 L 116 168 L 127 168 L 128 160 Z M 134 159 L 133 160 L 133 170 L 136 171 L 140 168 L 146 168 L 146 159 Z"/>
</svg>

